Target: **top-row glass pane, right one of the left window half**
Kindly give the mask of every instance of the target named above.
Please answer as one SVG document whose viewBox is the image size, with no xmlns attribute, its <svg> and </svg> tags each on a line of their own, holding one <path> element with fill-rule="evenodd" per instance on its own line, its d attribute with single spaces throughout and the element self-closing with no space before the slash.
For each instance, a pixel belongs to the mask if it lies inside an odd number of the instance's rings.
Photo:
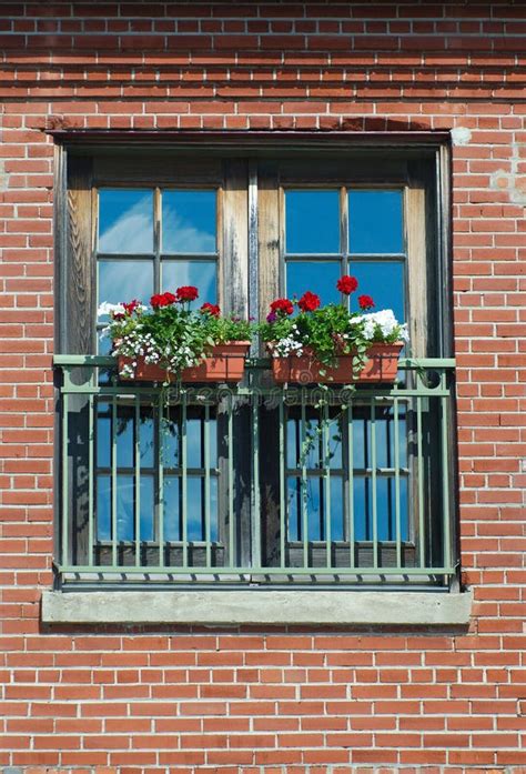
<svg viewBox="0 0 526 774">
<path fill-rule="evenodd" d="M 163 252 L 215 252 L 215 191 L 163 191 Z"/>
</svg>

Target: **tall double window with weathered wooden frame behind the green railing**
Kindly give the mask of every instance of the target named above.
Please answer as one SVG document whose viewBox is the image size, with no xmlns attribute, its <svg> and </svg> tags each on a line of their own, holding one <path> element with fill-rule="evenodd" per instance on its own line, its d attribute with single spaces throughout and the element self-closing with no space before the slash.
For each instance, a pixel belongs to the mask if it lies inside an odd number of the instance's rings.
<svg viewBox="0 0 526 774">
<path fill-rule="evenodd" d="M 449 582 L 442 155 L 68 151 L 62 579 Z M 277 389 L 254 349 L 239 388 L 166 391 L 119 382 L 99 336 L 101 301 L 195 284 L 200 303 L 262 318 L 285 293 L 340 301 L 344 273 L 408 322 L 394 388 Z"/>
</svg>

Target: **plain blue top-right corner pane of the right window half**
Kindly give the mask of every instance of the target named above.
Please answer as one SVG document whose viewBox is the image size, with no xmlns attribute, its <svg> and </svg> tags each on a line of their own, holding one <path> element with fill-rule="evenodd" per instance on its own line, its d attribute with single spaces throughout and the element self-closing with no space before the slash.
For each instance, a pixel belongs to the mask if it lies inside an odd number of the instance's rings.
<svg viewBox="0 0 526 774">
<path fill-rule="evenodd" d="M 404 252 L 402 207 L 402 191 L 350 191 L 350 252 Z"/>
</svg>

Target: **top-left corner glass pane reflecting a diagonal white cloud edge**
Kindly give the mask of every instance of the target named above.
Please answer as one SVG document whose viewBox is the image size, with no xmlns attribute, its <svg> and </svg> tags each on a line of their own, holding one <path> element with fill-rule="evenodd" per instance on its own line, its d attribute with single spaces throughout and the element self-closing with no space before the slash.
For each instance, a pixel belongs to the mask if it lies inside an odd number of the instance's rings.
<svg viewBox="0 0 526 774">
<path fill-rule="evenodd" d="M 99 252 L 153 252 L 152 191 L 99 191 Z"/>
</svg>

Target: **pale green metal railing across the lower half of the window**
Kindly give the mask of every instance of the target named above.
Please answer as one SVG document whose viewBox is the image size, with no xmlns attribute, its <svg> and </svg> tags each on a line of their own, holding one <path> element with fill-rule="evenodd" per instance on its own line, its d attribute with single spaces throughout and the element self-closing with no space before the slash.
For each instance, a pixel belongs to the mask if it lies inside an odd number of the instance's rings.
<svg viewBox="0 0 526 774">
<path fill-rule="evenodd" d="M 433 583 L 455 574 L 452 359 L 394 385 L 120 381 L 57 355 L 64 582 Z"/>
</svg>

